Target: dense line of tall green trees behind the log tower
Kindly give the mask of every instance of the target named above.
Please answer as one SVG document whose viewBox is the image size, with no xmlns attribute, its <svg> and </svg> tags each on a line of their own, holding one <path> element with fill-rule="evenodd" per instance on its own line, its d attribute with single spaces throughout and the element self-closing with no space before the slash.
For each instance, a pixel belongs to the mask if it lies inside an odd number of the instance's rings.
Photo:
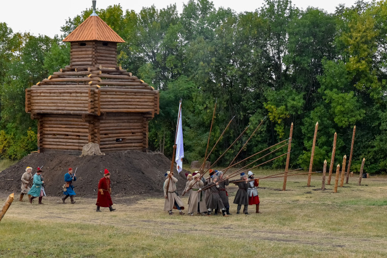
<svg viewBox="0 0 387 258">
<path fill-rule="evenodd" d="M 70 63 L 70 46 L 61 40 L 91 13 L 69 18 L 54 38 L 13 33 L 0 23 L 1 157 L 36 150 L 24 89 Z M 119 64 L 160 91 L 160 114 L 149 124 L 151 150 L 172 156 L 182 98 L 184 159 L 203 161 L 216 100 L 210 148 L 235 118 L 209 160 L 250 125 L 219 161 L 227 165 L 266 117 L 239 159 L 288 138 L 294 123 L 291 166 L 308 167 L 318 121 L 316 169 L 330 160 L 335 132 L 335 164 L 349 155 L 356 125 L 352 170 L 365 157 L 368 173 L 387 171 L 387 2 L 358 1 L 327 13 L 266 0 L 255 12 L 236 13 L 190 0 L 181 13 L 176 5 L 139 13 L 114 5 L 97 13 L 126 41 L 118 46 Z"/>
</svg>

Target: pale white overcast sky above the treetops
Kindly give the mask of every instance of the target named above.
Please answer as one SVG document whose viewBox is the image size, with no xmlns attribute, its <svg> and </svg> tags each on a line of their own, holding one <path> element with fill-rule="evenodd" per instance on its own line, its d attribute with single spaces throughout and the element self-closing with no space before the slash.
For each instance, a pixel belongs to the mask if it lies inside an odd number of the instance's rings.
<svg viewBox="0 0 387 258">
<path fill-rule="evenodd" d="M 143 7 L 154 5 L 162 9 L 176 3 L 178 12 L 183 10 L 183 3 L 188 0 L 97 0 L 97 8 L 106 9 L 109 5 L 121 4 L 122 9 L 139 12 Z M 239 12 L 255 11 L 263 6 L 263 0 L 213 0 L 215 8 L 231 8 Z M 339 4 L 352 6 L 354 0 L 293 0 L 292 4 L 300 9 L 308 6 L 335 12 Z M 30 32 L 53 37 L 61 34 L 61 26 L 70 17 L 73 18 L 86 8 L 92 6 L 91 0 L 5 0 L 0 4 L 0 22 L 6 22 L 13 32 Z"/>
</svg>

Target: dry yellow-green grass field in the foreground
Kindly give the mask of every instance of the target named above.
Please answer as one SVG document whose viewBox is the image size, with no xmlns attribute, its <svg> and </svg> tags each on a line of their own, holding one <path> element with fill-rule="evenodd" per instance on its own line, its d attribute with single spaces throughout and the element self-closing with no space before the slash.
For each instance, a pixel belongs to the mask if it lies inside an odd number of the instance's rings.
<svg viewBox="0 0 387 258">
<path fill-rule="evenodd" d="M 258 170 L 257 176 L 276 171 Z M 278 173 L 278 172 L 277 172 Z M 333 175 L 335 176 L 335 174 Z M 333 177 L 334 179 L 334 177 Z M 95 198 L 61 205 L 14 203 L 0 222 L 3 257 L 385 257 L 387 178 L 350 178 L 333 193 L 321 174 L 260 181 L 260 211 L 229 217 L 169 216 L 162 196 L 114 197 L 117 208 L 95 212 Z M 334 182 L 334 180 L 332 180 Z M 183 182 L 179 182 L 183 183 Z M 184 182 L 185 183 L 185 182 Z M 160 186 L 161 187 L 161 186 Z M 235 186 L 233 186 L 235 187 Z M 235 191 L 230 195 L 232 203 Z M 3 205 L 6 199 L 1 196 Z M 35 202 L 35 201 L 34 201 Z M 187 197 L 183 197 L 187 202 Z M 126 203 L 126 204 L 125 204 Z"/>
</svg>

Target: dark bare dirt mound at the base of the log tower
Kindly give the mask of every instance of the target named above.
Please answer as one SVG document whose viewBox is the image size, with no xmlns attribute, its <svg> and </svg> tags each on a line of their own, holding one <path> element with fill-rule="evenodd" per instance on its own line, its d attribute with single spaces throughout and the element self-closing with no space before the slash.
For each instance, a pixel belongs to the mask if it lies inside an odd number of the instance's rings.
<svg viewBox="0 0 387 258">
<path fill-rule="evenodd" d="M 91 196 L 98 191 L 98 182 L 103 171 L 110 171 L 113 194 L 146 194 L 163 195 L 164 174 L 171 168 L 171 160 L 158 152 L 122 151 L 106 153 L 105 156 L 76 156 L 67 154 L 30 154 L 18 163 L 0 173 L 0 192 L 20 192 L 21 181 L 27 166 L 33 167 L 33 175 L 38 166 L 43 166 L 42 176 L 48 196 L 63 194 L 62 185 L 68 168 L 76 171 L 77 181 L 73 183 L 77 195 Z M 176 165 L 175 165 L 176 171 Z M 178 193 L 185 187 L 186 170 L 175 177 Z M 13 179 L 13 180 L 5 180 Z M 2 181 L 4 180 L 4 181 Z"/>
</svg>

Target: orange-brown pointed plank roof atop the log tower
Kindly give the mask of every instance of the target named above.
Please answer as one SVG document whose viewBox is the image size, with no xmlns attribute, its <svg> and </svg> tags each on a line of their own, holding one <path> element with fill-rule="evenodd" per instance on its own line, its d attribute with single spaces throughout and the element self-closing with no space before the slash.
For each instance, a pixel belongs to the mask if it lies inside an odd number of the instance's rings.
<svg viewBox="0 0 387 258">
<path fill-rule="evenodd" d="M 98 16 L 89 16 L 82 22 L 75 30 L 70 33 L 64 42 L 75 41 L 107 41 L 107 42 L 125 42 L 118 34 L 113 31 L 109 25 L 106 24 Z"/>
</svg>

